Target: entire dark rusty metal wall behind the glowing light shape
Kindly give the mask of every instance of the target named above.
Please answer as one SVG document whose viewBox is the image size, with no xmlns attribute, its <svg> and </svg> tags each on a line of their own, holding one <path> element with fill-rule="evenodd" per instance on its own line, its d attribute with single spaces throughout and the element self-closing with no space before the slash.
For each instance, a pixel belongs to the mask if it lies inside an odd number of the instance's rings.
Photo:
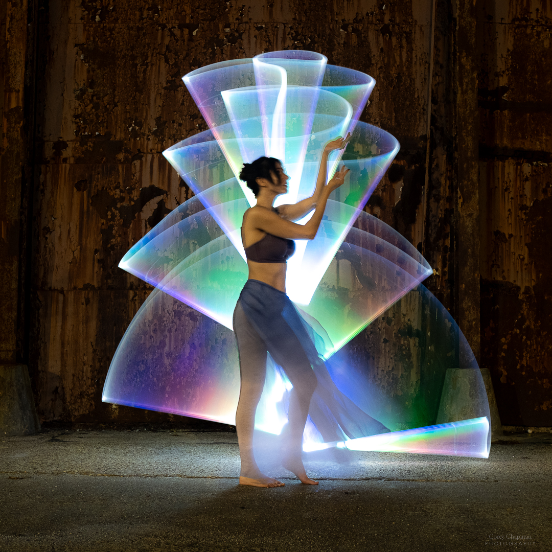
<svg viewBox="0 0 552 552">
<path fill-rule="evenodd" d="M 376 79 L 362 120 L 401 151 L 366 209 L 434 268 L 502 423 L 552 426 L 551 34 L 548 0 L 1 0 L 0 363 L 45 422 L 205 425 L 101 402 L 151 291 L 117 264 L 192 195 L 161 155 L 206 129 L 181 77 L 307 49 Z"/>
</svg>

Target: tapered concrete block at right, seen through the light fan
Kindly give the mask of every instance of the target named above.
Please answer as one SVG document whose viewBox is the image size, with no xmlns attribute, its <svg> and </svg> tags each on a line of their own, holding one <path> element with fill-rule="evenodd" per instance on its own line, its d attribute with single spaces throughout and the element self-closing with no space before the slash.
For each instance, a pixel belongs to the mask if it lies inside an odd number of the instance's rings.
<svg viewBox="0 0 552 552">
<path fill-rule="evenodd" d="M 491 439 L 502 435 L 502 425 L 496 407 L 489 370 L 481 370 L 491 413 Z M 486 381 L 486 378 L 488 381 Z M 480 416 L 477 399 L 481 397 L 479 373 L 475 370 L 449 368 L 445 374 L 436 423 L 470 420 Z"/>
</svg>

